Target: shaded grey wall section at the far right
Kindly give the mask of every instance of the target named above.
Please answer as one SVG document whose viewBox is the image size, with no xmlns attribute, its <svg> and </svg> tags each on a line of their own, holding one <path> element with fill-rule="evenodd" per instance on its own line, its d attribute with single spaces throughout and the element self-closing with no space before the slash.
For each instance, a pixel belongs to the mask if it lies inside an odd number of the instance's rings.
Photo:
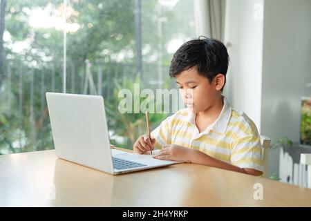
<svg viewBox="0 0 311 221">
<path fill-rule="evenodd" d="M 261 131 L 272 140 L 300 137 L 302 96 L 311 95 L 311 1 L 265 0 Z M 279 171 L 279 150 L 270 153 Z"/>
</svg>

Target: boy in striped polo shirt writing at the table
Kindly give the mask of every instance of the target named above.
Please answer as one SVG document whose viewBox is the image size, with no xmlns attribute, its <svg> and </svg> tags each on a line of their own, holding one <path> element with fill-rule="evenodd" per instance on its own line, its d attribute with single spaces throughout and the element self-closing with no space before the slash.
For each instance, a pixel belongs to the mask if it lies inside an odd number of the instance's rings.
<svg viewBox="0 0 311 221">
<path fill-rule="evenodd" d="M 169 75 L 176 79 L 187 108 L 167 117 L 133 146 L 138 154 L 153 146 L 162 148 L 153 157 L 215 166 L 261 175 L 260 136 L 245 113 L 230 108 L 222 95 L 229 55 L 220 41 L 187 41 L 173 55 Z"/>
</svg>

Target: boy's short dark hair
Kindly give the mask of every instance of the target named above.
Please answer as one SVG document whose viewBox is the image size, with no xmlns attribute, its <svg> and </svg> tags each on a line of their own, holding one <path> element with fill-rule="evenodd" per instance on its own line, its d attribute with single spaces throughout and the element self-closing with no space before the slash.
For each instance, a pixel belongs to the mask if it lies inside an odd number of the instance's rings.
<svg viewBox="0 0 311 221">
<path fill-rule="evenodd" d="M 207 77 L 211 83 L 218 73 L 225 75 L 226 79 L 228 63 L 229 55 L 222 42 L 207 37 L 200 39 L 199 37 L 187 41 L 178 48 L 171 60 L 169 75 L 176 77 L 182 71 L 195 67 L 198 74 Z"/>
</svg>

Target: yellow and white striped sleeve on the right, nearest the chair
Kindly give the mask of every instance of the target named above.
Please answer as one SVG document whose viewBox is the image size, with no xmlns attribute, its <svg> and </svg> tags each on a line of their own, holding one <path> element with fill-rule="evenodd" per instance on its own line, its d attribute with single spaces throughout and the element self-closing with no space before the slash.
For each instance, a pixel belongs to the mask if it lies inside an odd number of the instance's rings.
<svg viewBox="0 0 311 221">
<path fill-rule="evenodd" d="M 232 146 L 231 162 L 240 168 L 263 170 L 263 147 L 259 135 L 252 134 L 236 139 Z"/>
</svg>

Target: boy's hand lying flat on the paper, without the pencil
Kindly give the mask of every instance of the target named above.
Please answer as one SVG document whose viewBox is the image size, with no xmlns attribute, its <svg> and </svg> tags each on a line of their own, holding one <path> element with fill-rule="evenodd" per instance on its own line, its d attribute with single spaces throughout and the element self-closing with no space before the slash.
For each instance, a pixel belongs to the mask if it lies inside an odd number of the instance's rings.
<svg viewBox="0 0 311 221">
<path fill-rule="evenodd" d="M 194 150 L 191 148 L 170 144 L 162 146 L 162 150 L 156 155 L 153 155 L 153 158 L 191 163 L 191 155 L 193 152 Z"/>
</svg>

